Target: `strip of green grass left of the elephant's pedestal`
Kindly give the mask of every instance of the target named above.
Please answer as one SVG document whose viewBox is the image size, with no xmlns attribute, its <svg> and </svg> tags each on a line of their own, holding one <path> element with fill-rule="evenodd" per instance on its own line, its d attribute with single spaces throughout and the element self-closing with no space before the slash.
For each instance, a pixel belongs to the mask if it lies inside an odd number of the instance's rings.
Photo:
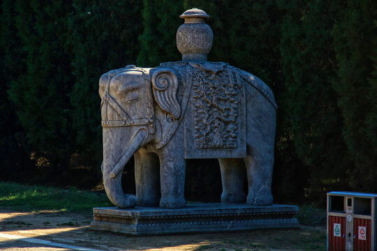
<svg viewBox="0 0 377 251">
<path fill-rule="evenodd" d="M 20 211 L 56 210 L 80 213 L 91 211 L 94 207 L 111 205 L 104 193 L 0 182 L 1 208 Z"/>
</svg>

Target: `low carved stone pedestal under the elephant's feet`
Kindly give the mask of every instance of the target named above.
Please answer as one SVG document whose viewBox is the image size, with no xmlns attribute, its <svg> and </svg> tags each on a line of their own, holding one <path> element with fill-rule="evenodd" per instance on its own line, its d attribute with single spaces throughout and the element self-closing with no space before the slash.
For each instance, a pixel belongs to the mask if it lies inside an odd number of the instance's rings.
<svg viewBox="0 0 377 251">
<path fill-rule="evenodd" d="M 185 208 L 93 208 L 91 229 L 133 236 L 300 227 L 297 206 L 188 204 Z"/>
</svg>

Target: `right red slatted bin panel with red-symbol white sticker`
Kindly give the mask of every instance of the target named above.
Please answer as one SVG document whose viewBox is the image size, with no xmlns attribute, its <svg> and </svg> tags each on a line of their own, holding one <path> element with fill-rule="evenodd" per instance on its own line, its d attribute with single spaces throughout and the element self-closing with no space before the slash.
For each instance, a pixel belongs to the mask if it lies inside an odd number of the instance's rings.
<svg viewBox="0 0 377 251">
<path fill-rule="evenodd" d="M 353 219 L 353 250 L 371 251 L 371 220 Z"/>
</svg>

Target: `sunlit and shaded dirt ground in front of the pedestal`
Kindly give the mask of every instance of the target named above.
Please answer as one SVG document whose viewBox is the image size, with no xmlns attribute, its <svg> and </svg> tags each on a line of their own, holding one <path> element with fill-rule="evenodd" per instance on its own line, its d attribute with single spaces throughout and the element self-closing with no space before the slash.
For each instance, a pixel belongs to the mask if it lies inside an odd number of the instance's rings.
<svg viewBox="0 0 377 251">
<path fill-rule="evenodd" d="M 130 237 L 89 228 L 93 215 L 0 209 L 0 250 L 325 250 L 325 226 Z"/>
</svg>

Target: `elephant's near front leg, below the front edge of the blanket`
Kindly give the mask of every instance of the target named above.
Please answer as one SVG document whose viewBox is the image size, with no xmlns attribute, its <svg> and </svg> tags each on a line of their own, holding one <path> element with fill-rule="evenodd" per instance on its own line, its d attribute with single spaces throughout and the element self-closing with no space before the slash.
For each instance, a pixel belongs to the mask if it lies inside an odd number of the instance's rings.
<svg viewBox="0 0 377 251">
<path fill-rule="evenodd" d="M 184 151 L 179 148 L 179 146 L 165 147 L 160 156 L 161 208 L 183 208 L 186 204 L 184 199 L 186 160 L 183 156 Z"/>
</svg>

